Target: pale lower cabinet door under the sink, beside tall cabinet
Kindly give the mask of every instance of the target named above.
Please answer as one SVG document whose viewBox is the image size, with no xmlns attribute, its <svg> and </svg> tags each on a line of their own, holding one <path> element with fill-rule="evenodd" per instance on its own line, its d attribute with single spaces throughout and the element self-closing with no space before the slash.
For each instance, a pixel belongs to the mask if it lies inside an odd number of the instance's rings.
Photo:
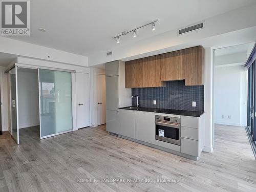
<svg viewBox="0 0 256 192">
<path fill-rule="evenodd" d="M 135 111 L 119 109 L 119 135 L 135 139 Z"/>
</svg>

